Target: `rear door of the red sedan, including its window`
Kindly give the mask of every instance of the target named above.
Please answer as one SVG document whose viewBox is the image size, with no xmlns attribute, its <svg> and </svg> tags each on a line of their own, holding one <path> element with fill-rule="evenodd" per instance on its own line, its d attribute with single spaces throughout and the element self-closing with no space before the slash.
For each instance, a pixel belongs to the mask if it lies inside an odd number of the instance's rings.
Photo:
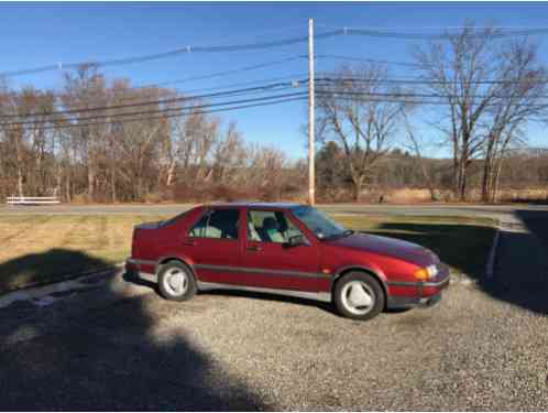
<svg viewBox="0 0 548 413">
<path fill-rule="evenodd" d="M 183 240 L 201 282 L 240 284 L 241 208 L 211 208 L 190 226 Z"/>
</svg>

